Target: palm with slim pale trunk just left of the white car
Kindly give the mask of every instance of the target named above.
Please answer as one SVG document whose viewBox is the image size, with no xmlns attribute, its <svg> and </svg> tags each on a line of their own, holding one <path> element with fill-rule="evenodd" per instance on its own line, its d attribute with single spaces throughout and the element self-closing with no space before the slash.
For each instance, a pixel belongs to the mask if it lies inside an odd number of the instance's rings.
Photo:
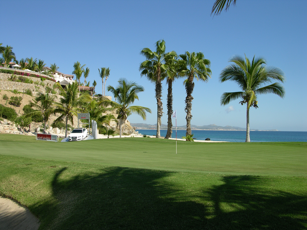
<svg viewBox="0 0 307 230">
<path fill-rule="evenodd" d="M 69 84 L 65 89 L 62 88 L 59 82 L 57 82 L 57 86 L 59 87 L 60 96 L 62 97 L 60 98 L 60 103 L 55 102 L 55 113 L 60 113 L 61 115 L 53 121 L 52 125 L 63 122 L 65 119 L 65 137 L 67 137 L 68 120 L 73 125 L 73 117 L 77 116 L 78 111 L 85 112 L 84 109 L 80 109 L 80 106 L 82 103 L 90 101 L 91 96 L 85 92 L 78 97 L 78 82 Z"/>
</svg>

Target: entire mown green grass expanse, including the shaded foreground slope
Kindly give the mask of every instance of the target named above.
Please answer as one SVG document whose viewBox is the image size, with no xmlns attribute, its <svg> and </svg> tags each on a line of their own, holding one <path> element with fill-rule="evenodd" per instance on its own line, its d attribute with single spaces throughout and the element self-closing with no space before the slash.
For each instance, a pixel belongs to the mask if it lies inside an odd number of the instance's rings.
<svg viewBox="0 0 307 230">
<path fill-rule="evenodd" d="M 21 138 L 0 135 L 0 195 L 29 207 L 40 229 L 307 228 L 306 143 L 183 142 L 176 155 L 149 138 Z"/>
</svg>

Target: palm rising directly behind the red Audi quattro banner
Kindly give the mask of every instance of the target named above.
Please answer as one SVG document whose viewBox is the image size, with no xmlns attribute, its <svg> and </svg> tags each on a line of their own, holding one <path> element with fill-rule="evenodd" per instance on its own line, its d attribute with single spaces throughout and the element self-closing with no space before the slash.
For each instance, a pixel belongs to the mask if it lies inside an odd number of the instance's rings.
<svg viewBox="0 0 307 230">
<path fill-rule="evenodd" d="M 38 93 L 37 97 L 34 99 L 34 102 L 30 102 L 30 107 L 34 107 L 38 111 L 27 113 L 25 116 L 33 116 L 41 114 L 43 116 L 44 123 L 44 133 L 46 131 L 46 125 L 49 121 L 51 115 L 54 113 L 54 101 L 56 99 L 55 95 L 48 93 L 42 94 Z"/>
</svg>

